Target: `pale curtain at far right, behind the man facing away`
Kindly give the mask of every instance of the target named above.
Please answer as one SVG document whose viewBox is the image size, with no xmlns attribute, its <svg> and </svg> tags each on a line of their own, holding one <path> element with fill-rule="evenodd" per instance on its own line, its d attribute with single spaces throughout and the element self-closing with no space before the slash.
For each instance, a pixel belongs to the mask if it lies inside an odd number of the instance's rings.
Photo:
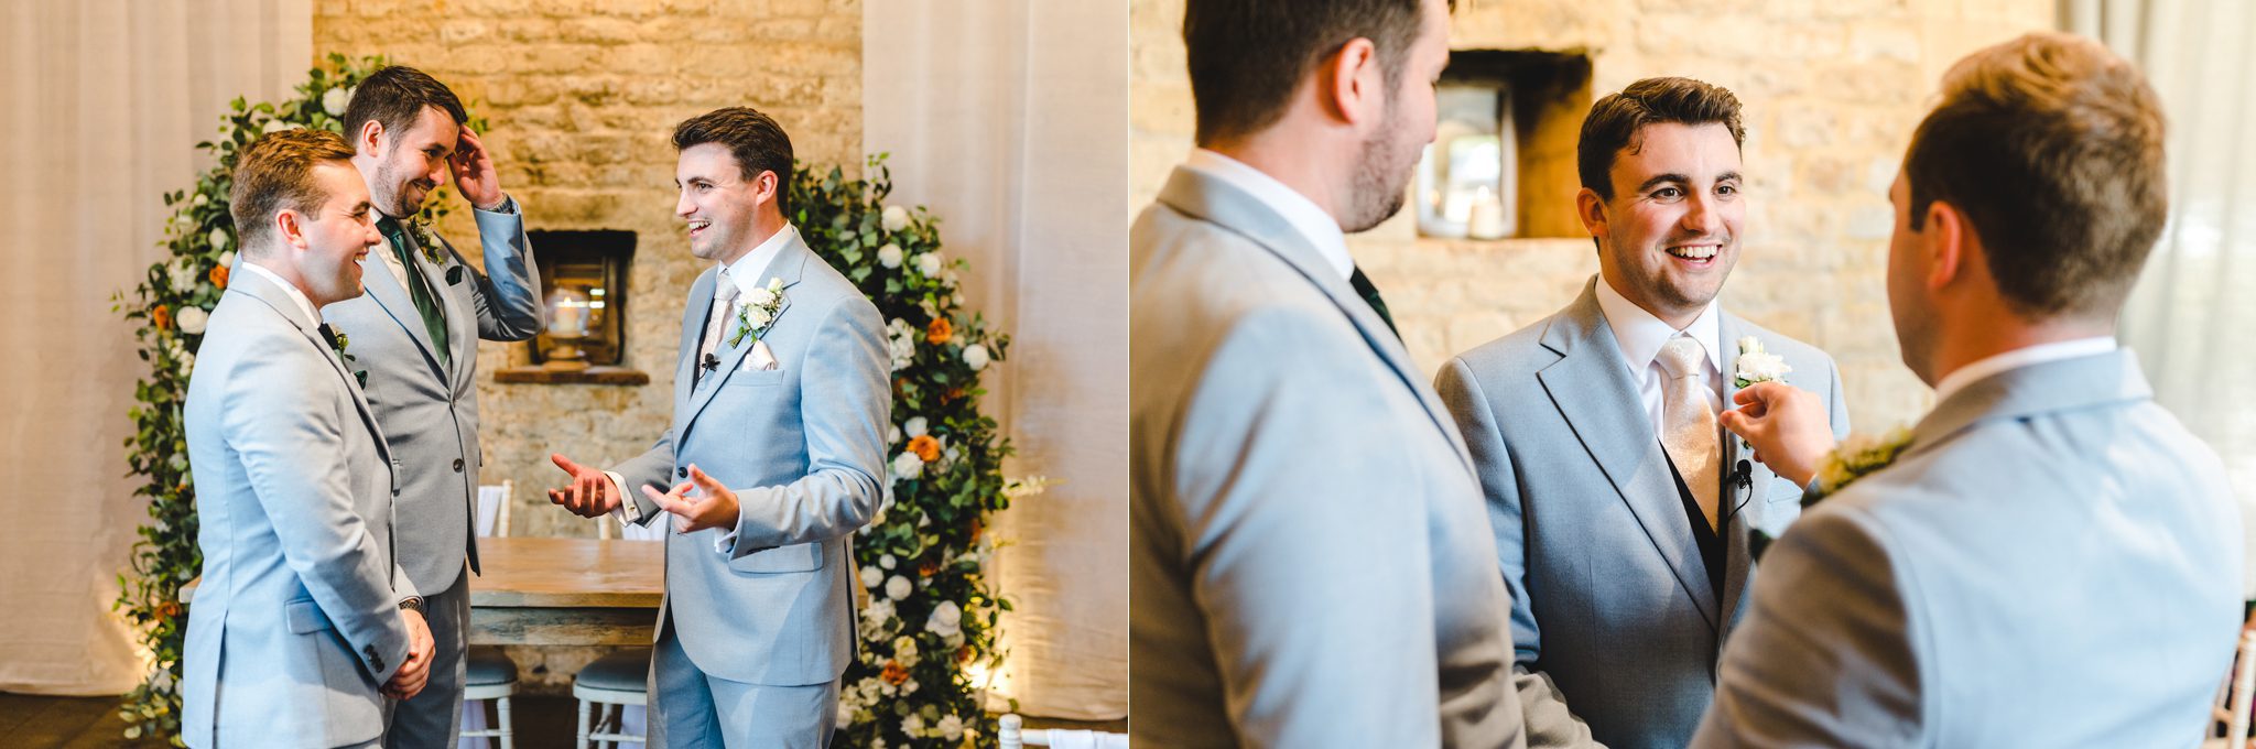
<svg viewBox="0 0 2256 749">
<path fill-rule="evenodd" d="M 2069 0 L 2064 25 L 2139 63 L 2170 120 L 2170 223 L 2123 314 L 2154 397 L 2209 440 L 2256 548 L 2256 5 Z M 2256 598 L 2256 555 L 2247 593 Z"/>
</svg>

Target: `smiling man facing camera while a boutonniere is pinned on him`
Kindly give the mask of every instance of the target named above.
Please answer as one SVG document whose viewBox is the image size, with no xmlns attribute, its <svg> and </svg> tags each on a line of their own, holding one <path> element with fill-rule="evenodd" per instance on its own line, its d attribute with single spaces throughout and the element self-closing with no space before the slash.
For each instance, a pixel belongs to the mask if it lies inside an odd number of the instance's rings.
<svg viewBox="0 0 2256 749">
<path fill-rule="evenodd" d="M 1739 99 L 1692 79 L 1590 106 L 1577 210 L 1597 277 L 1435 379 L 1489 499 L 1530 744 L 1683 747 L 1699 729 L 1755 532 L 1800 512 L 1800 485 L 1717 424 L 1742 368 L 1764 370 L 1742 350 L 1778 356 L 1848 433 L 1832 359 L 1717 302 L 1742 142 Z"/>
</svg>

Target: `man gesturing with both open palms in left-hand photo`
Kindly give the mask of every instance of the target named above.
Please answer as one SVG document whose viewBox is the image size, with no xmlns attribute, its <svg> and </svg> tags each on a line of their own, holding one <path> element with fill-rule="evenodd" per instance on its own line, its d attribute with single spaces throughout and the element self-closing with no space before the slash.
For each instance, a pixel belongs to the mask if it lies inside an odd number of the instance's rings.
<svg viewBox="0 0 2256 749">
<path fill-rule="evenodd" d="M 672 514 L 650 663 L 654 747 L 821 749 L 853 661 L 853 532 L 891 492 L 891 388 L 878 307 L 783 217 L 792 140 L 733 106 L 675 129 L 690 284 L 675 420 L 609 474 L 550 501 L 650 523 Z M 641 490 L 623 505 L 623 490 Z M 695 494 L 690 494 L 695 492 Z"/>
</svg>

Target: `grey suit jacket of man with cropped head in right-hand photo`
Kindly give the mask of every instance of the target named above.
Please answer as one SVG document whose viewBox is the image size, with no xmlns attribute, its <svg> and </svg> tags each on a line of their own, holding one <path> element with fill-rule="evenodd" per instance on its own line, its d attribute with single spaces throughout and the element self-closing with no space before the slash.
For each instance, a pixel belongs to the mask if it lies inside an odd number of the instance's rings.
<svg viewBox="0 0 2256 749">
<path fill-rule="evenodd" d="M 1521 747 L 1480 490 L 1401 341 L 1198 171 L 1130 253 L 1133 740 Z"/>
</svg>

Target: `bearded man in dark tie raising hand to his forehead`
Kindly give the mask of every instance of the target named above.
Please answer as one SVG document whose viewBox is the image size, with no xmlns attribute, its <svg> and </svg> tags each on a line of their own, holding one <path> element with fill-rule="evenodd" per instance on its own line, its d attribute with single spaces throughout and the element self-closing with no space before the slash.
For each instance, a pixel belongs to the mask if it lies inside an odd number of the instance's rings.
<svg viewBox="0 0 2256 749">
<path fill-rule="evenodd" d="M 453 747 L 462 724 L 472 532 L 478 487 L 478 338 L 523 341 L 541 327 L 526 217 L 469 131 L 462 102 L 422 70 L 368 74 L 345 106 L 352 165 L 377 205 L 384 244 L 361 259 L 368 293 L 323 309 L 354 343 L 370 408 L 399 458 L 399 564 L 424 593 L 438 659 L 431 686 L 393 713 L 386 747 Z M 453 174 L 478 219 L 485 273 L 453 244 L 411 230 Z M 467 569 L 465 569 L 467 566 Z"/>
</svg>

